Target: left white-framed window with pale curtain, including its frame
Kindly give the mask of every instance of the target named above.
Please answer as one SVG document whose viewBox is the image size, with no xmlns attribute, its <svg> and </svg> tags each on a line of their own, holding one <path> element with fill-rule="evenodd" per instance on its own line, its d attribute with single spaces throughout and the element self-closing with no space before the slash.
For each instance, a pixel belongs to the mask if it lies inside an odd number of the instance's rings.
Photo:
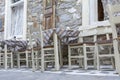
<svg viewBox="0 0 120 80">
<path fill-rule="evenodd" d="M 26 39 L 27 0 L 6 0 L 5 39 Z M 9 6 L 7 6 L 9 5 Z"/>
</svg>

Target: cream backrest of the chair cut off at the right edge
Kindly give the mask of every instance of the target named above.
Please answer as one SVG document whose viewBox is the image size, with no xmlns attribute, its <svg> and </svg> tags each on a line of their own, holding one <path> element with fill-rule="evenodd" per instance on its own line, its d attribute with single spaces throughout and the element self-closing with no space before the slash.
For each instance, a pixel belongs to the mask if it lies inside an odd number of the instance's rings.
<svg viewBox="0 0 120 80">
<path fill-rule="evenodd" d="M 120 23 L 120 5 L 107 5 L 107 12 L 109 15 L 109 21 L 112 27 L 112 33 L 113 33 L 113 38 L 118 37 L 118 30 L 119 26 L 117 26 Z"/>
</svg>

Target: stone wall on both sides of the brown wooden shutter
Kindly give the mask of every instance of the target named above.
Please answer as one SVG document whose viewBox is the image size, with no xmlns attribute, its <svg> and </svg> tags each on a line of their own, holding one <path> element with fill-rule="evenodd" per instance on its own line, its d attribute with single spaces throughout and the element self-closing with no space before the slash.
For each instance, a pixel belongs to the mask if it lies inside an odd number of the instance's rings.
<svg viewBox="0 0 120 80">
<path fill-rule="evenodd" d="M 38 26 L 43 13 L 43 0 L 28 0 L 28 23 Z M 56 27 L 76 28 L 81 25 L 81 0 L 64 0 L 56 3 Z"/>
</svg>

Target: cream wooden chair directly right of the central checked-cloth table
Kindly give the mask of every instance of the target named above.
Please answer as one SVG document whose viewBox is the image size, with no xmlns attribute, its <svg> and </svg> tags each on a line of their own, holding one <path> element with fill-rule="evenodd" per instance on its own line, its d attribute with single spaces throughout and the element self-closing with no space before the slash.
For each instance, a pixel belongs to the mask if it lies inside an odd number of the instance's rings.
<svg viewBox="0 0 120 80">
<path fill-rule="evenodd" d="M 82 33 L 82 31 L 80 31 Z M 87 34 L 88 33 L 88 34 Z M 87 34 L 87 35 L 84 35 Z M 75 44 L 69 44 L 68 45 L 68 64 L 69 69 L 72 68 L 72 61 L 78 60 L 79 65 L 82 64 L 82 67 L 84 66 L 84 69 L 88 69 L 88 62 L 92 61 L 92 66 L 95 67 L 95 35 L 89 33 L 89 30 L 83 31 L 82 35 L 79 36 L 80 40 L 78 43 Z M 86 38 L 86 41 L 85 41 Z M 88 38 L 91 38 L 90 41 L 88 41 Z M 76 51 L 76 52 L 73 52 Z"/>
</svg>

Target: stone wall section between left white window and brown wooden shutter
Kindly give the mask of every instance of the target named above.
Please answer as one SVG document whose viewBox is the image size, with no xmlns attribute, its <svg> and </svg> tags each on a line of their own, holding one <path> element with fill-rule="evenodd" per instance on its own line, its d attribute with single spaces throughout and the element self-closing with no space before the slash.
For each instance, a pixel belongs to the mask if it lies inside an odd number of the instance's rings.
<svg viewBox="0 0 120 80">
<path fill-rule="evenodd" d="M 28 0 L 27 22 L 33 22 L 34 26 L 39 26 L 40 15 L 43 13 L 43 0 Z M 28 26 L 29 27 L 29 26 Z"/>
</svg>

